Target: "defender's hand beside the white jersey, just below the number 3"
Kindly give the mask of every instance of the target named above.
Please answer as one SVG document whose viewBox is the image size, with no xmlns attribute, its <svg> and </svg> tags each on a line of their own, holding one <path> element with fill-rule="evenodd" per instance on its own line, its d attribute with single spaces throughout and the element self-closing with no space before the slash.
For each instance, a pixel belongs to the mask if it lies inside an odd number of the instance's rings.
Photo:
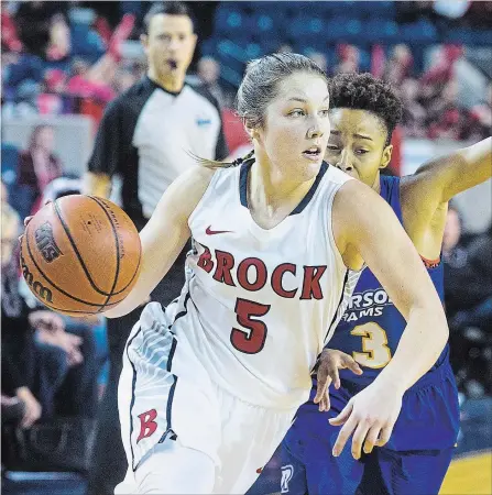
<svg viewBox="0 0 492 495">
<path fill-rule="evenodd" d="M 316 375 L 318 382 L 315 404 L 319 404 L 319 410 L 330 410 L 329 387 L 334 383 L 335 388 L 340 388 L 338 370 L 351 370 L 356 375 L 361 375 L 362 370 L 358 362 L 349 354 L 336 349 L 325 349 L 319 356 L 319 366 Z"/>
</svg>

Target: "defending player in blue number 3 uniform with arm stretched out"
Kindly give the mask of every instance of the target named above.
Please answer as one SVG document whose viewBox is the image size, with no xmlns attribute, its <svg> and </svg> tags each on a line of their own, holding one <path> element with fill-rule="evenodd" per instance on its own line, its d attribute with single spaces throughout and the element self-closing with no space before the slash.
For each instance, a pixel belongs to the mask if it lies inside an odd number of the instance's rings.
<svg viewBox="0 0 492 495">
<path fill-rule="evenodd" d="M 380 170 L 391 160 L 392 132 L 402 114 L 398 98 L 369 74 L 343 74 L 331 80 L 330 107 L 326 161 L 371 186 L 391 205 L 442 298 L 439 256 L 447 204 L 458 193 L 491 177 L 491 139 L 434 160 L 412 176 L 382 176 Z M 319 383 L 314 381 L 310 400 L 299 408 L 284 439 L 281 493 L 439 492 L 459 429 L 458 393 L 448 346 L 426 375 L 406 392 L 401 391 L 403 404 L 393 431 L 383 430 L 378 439 L 373 429 L 359 426 L 353 431 L 347 421 L 351 398 L 390 362 L 405 324 L 381 284 L 365 270 L 330 349 L 320 356 Z M 426 345 L 425 336 L 422 345 Z M 337 369 L 343 367 L 338 374 Z M 352 432 L 352 452 L 340 453 L 340 442 Z M 384 447 L 378 447 L 389 437 Z"/>
</svg>

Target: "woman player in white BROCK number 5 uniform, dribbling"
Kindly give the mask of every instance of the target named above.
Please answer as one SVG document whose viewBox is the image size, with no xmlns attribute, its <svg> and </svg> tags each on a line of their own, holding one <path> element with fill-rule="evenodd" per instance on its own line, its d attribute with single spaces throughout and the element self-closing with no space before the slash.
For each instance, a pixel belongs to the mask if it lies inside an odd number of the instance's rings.
<svg viewBox="0 0 492 495">
<path fill-rule="evenodd" d="M 142 230 L 139 280 L 108 317 L 145 300 L 189 237 L 195 248 L 179 299 L 165 310 L 149 304 L 127 344 L 119 413 L 129 471 L 116 493 L 244 493 L 307 399 L 363 262 L 407 328 L 354 398 L 356 433 L 369 427 L 384 444 L 404 389 L 442 350 L 442 307 L 393 211 L 322 163 L 328 108 L 327 80 L 308 58 L 249 64 L 238 112 L 254 160 L 185 173 Z"/>
</svg>

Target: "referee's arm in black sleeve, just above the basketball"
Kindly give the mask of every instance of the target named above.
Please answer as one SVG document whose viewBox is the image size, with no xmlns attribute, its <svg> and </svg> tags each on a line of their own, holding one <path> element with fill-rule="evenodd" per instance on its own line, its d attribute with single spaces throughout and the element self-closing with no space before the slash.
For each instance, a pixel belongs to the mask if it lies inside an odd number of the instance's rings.
<svg viewBox="0 0 492 495">
<path fill-rule="evenodd" d="M 122 169 L 121 161 L 127 147 L 122 135 L 119 99 L 108 105 L 96 136 L 88 170 L 84 175 L 83 193 L 108 198 L 111 177 Z"/>
</svg>

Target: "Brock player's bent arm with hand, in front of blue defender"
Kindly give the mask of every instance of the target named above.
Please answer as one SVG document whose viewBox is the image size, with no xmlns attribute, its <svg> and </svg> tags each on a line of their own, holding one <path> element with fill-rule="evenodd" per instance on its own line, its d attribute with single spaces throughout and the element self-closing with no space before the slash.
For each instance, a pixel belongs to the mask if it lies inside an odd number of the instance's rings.
<svg viewBox="0 0 492 495">
<path fill-rule="evenodd" d="M 334 202 L 334 234 L 346 264 L 351 266 L 351 253 L 357 252 L 407 322 L 393 359 L 378 378 L 330 420 L 343 425 L 334 453 L 340 453 L 353 433 L 352 455 L 359 459 L 362 444 L 368 452 L 387 442 L 404 392 L 435 364 L 449 331 L 415 246 L 375 191 L 357 180 L 340 188 Z"/>
</svg>

